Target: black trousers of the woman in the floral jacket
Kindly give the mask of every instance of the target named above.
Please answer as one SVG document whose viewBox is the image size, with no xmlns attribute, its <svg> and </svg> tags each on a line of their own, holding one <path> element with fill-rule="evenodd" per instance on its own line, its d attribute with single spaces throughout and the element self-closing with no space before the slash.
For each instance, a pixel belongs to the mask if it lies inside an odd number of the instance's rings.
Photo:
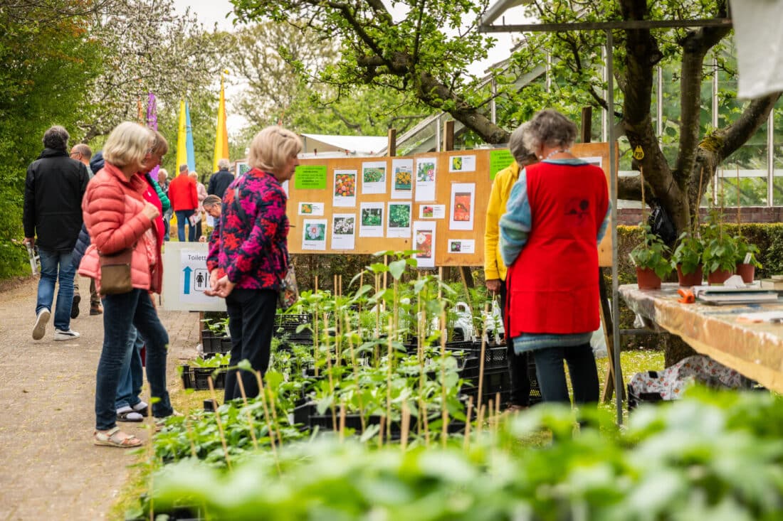
<svg viewBox="0 0 783 521">
<path fill-rule="evenodd" d="M 231 361 L 233 367 L 240 361 L 250 362 L 253 371 L 263 376 L 269 368 L 269 348 L 277 310 L 277 292 L 272 289 L 234 289 L 226 297 L 231 333 Z M 245 395 L 258 396 L 258 381 L 254 372 L 233 369 L 226 374 L 224 400 L 242 397 L 237 377 L 242 379 Z"/>
</svg>

